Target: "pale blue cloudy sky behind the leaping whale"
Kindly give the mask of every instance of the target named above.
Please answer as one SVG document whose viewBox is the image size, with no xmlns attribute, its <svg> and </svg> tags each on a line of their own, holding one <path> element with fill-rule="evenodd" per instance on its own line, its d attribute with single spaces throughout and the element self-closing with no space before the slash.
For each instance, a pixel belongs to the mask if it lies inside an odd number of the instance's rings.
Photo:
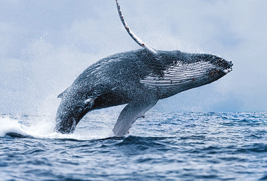
<svg viewBox="0 0 267 181">
<path fill-rule="evenodd" d="M 234 63 L 212 84 L 165 100 L 156 111 L 267 111 L 267 1 L 120 0 L 150 47 L 211 53 Z M 140 49 L 115 0 L 0 1 L 0 113 L 55 113 L 56 96 L 92 63 Z"/>
</svg>

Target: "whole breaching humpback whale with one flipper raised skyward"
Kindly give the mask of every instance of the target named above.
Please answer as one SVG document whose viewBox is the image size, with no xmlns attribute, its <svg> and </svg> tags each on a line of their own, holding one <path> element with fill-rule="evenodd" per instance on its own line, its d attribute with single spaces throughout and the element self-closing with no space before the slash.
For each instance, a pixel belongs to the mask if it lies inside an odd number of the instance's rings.
<svg viewBox="0 0 267 181">
<path fill-rule="evenodd" d="M 152 49 L 129 29 L 115 1 L 125 29 L 144 49 L 108 56 L 84 70 L 58 95 L 57 132 L 74 132 L 89 111 L 127 104 L 113 127 L 114 136 L 124 136 L 158 100 L 210 84 L 232 71 L 232 62 L 213 54 Z"/>
</svg>

